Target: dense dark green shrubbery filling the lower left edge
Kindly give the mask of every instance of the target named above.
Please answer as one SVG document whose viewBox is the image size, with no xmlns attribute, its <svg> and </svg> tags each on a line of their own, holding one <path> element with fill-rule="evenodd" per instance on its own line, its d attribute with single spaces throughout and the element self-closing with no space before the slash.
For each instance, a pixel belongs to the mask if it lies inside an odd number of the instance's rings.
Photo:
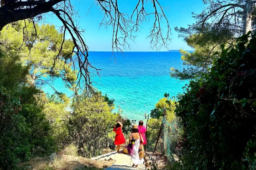
<svg viewBox="0 0 256 170">
<path fill-rule="evenodd" d="M 28 66 L 18 55 L 0 53 L 0 168 L 13 169 L 32 153 L 52 149 L 49 122 L 35 107 L 38 90 L 27 84 Z M 28 104 L 31 103 L 31 104 Z"/>
</svg>

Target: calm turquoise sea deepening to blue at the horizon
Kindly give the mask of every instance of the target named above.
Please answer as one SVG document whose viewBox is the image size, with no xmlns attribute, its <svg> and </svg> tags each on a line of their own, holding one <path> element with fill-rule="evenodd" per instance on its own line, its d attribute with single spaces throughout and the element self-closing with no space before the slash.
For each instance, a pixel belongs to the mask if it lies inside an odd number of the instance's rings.
<svg viewBox="0 0 256 170">
<path fill-rule="evenodd" d="M 188 81 L 180 81 L 170 77 L 170 68 L 183 68 L 181 54 L 171 52 L 125 52 L 111 57 L 112 52 L 90 52 L 89 61 L 100 71 L 100 78 L 94 77 L 95 87 L 102 94 L 108 94 L 115 99 L 114 112 L 118 112 L 118 105 L 122 115 L 128 119 L 145 119 L 145 112 L 154 109 L 163 94 L 176 96 L 183 91 L 182 87 Z M 64 87 L 61 79 L 56 79 L 52 85 L 68 96 L 72 91 Z M 49 94 L 54 91 L 49 85 L 42 89 Z"/>
</svg>

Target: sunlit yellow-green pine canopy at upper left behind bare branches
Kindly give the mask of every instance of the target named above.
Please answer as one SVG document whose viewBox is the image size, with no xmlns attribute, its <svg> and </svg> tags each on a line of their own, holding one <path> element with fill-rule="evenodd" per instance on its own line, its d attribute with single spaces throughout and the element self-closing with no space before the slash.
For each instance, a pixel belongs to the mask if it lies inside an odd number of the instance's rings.
<svg viewBox="0 0 256 170">
<path fill-rule="evenodd" d="M 0 50 L 12 57 L 19 51 L 20 62 L 31 66 L 28 75 L 33 84 L 45 83 L 46 77 L 61 77 L 68 87 L 72 87 L 76 81 L 76 71 L 71 68 L 73 63 L 69 59 L 74 44 L 72 40 L 65 40 L 59 54 L 62 42 L 63 34 L 58 33 L 55 26 L 34 25 L 31 20 L 9 24 L 0 34 L 0 43 L 3 44 Z"/>
</svg>

